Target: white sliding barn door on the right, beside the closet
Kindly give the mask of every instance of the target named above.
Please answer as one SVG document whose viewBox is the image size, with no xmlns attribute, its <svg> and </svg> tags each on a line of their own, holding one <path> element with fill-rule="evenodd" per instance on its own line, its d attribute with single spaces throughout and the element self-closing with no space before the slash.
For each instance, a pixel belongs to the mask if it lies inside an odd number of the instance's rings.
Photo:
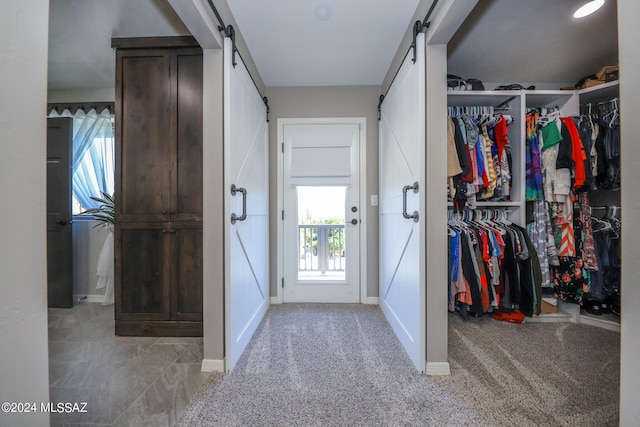
<svg viewBox="0 0 640 427">
<path fill-rule="evenodd" d="M 426 340 L 424 144 L 424 34 L 419 34 L 416 62 L 407 55 L 381 106 L 379 303 L 421 372 Z"/>
</svg>

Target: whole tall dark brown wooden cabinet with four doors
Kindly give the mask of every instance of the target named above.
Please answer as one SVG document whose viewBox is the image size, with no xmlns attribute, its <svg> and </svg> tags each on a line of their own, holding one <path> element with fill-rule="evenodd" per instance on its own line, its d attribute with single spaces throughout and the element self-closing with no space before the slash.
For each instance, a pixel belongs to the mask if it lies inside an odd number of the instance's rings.
<svg viewBox="0 0 640 427">
<path fill-rule="evenodd" d="M 116 335 L 202 336 L 202 50 L 112 45 Z"/>
</svg>

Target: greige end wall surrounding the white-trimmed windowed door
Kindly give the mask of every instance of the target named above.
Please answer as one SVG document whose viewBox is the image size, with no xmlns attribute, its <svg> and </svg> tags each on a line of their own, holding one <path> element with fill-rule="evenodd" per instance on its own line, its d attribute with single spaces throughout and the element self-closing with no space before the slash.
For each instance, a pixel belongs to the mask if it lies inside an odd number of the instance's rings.
<svg viewBox="0 0 640 427">
<path fill-rule="evenodd" d="M 279 118 L 318 117 L 366 117 L 367 118 L 367 195 L 378 194 L 378 98 L 379 86 L 340 87 L 267 87 L 266 95 L 271 106 L 269 115 L 269 168 L 270 168 L 270 217 L 269 234 L 277 236 L 277 156 L 280 142 L 277 140 Z M 367 207 L 367 295 L 378 296 L 378 207 Z M 271 296 L 276 295 L 280 281 L 276 277 L 277 239 L 271 239 Z"/>
</svg>

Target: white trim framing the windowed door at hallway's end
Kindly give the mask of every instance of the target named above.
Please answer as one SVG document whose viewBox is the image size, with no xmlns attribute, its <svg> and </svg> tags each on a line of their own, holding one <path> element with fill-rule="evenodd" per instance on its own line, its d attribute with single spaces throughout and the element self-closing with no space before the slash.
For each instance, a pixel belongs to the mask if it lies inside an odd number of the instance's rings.
<svg viewBox="0 0 640 427">
<path fill-rule="evenodd" d="M 365 117 L 326 117 L 326 118 L 279 118 L 277 120 L 278 172 L 277 172 L 277 262 L 276 262 L 276 296 L 271 303 L 282 304 L 282 280 L 284 278 L 284 127 L 286 125 L 317 125 L 317 124 L 354 124 L 360 127 L 360 302 L 367 303 L 367 119 Z"/>
</svg>

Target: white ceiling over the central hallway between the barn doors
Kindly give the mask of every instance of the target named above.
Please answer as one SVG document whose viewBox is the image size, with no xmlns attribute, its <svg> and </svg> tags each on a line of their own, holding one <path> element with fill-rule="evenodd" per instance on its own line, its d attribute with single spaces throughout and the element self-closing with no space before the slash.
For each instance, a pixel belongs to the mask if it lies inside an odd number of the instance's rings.
<svg viewBox="0 0 640 427">
<path fill-rule="evenodd" d="M 266 86 L 380 85 L 419 0 L 227 0 Z"/>
</svg>

